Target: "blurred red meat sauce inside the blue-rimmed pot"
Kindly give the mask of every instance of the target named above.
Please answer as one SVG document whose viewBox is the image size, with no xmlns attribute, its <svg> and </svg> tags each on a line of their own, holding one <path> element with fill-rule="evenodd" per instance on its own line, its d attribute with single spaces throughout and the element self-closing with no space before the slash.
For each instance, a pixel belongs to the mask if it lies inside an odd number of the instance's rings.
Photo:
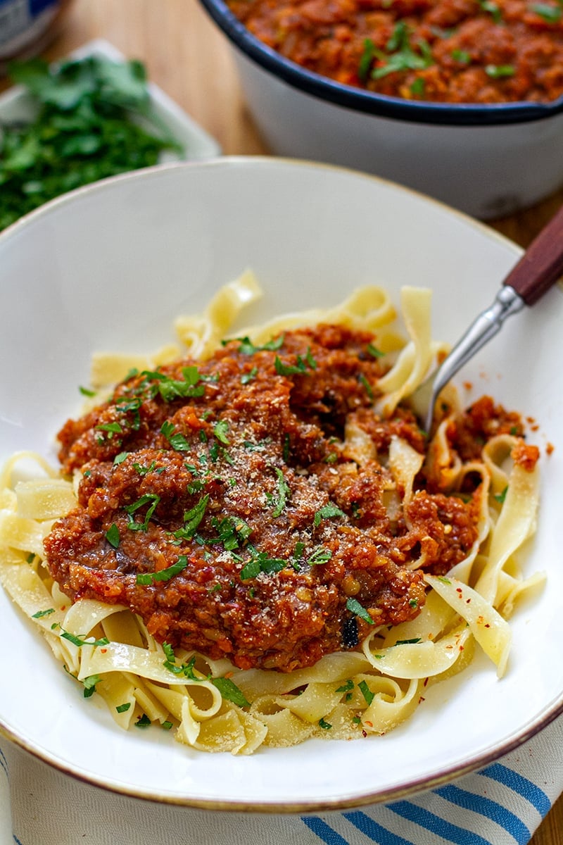
<svg viewBox="0 0 563 845">
<path fill-rule="evenodd" d="M 409 100 L 553 101 L 563 94 L 561 0 L 229 0 L 304 68 Z"/>
</svg>

